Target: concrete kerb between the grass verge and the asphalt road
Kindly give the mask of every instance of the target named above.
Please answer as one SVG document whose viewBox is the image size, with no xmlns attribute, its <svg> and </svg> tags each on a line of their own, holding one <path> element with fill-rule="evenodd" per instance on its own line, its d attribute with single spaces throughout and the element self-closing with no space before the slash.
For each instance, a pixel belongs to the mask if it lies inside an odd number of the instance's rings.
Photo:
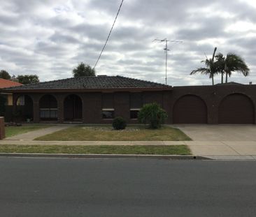
<svg viewBox="0 0 256 217">
<path fill-rule="evenodd" d="M 115 158 L 115 159 L 166 159 L 166 160 L 213 160 L 204 156 L 192 155 L 148 155 L 148 154 L 27 154 L 0 153 L 1 157 L 27 158 Z"/>
</svg>

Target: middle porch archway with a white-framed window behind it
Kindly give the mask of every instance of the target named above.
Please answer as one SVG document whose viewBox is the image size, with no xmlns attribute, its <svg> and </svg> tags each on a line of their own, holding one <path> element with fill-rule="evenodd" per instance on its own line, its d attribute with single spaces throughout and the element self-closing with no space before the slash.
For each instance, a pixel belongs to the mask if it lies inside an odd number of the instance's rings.
<svg viewBox="0 0 256 217">
<path fill-rule="evenodd" d="M 40 119 L 42 121 L 57 121 L 58 107 L 54 96 L 46 94 L 39 100 Z"/>
</svg>

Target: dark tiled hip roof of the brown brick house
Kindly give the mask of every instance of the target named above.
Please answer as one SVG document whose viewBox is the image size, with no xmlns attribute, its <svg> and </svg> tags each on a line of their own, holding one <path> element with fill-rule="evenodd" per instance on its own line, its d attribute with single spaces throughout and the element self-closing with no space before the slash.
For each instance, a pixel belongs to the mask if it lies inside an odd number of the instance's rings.
<svg viewBox="0 0 256 217">
<path fill-rule="evenodd" d="M 63 80 L 26 84 L 6 90 L 41 89 L 125 89 L 125 88 L 170 88 L 171 86 L 122 76 L 71 77 Z"/>
</svg>

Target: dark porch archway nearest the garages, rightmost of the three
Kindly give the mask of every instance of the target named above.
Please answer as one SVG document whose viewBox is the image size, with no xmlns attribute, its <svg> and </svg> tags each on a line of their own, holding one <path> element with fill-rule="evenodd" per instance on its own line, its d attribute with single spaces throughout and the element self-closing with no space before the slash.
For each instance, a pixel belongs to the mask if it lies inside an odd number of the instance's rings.
<svg viewBox="0 0 256 217">
<path fill-rule="evenodd" d="M 71 94 L 64 99 L 64 120 L 82 121 L 83 103 L 79 96 Z"/>
</svg>

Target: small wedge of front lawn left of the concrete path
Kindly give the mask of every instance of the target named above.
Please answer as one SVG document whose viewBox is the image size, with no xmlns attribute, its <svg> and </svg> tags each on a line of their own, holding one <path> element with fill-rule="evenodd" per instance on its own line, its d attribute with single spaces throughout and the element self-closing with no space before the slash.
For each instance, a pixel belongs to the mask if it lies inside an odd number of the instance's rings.
<svg viewBox="0 0 256 217">
<path fill-rule="evenodd" d="M 48 128 L 53 125 L 50 124 L 26 124 L 22 126 L 6 126 L 6 137 L 27 133 L 33 130 L 40 130 L 42 128 Z"/>
</svg>

